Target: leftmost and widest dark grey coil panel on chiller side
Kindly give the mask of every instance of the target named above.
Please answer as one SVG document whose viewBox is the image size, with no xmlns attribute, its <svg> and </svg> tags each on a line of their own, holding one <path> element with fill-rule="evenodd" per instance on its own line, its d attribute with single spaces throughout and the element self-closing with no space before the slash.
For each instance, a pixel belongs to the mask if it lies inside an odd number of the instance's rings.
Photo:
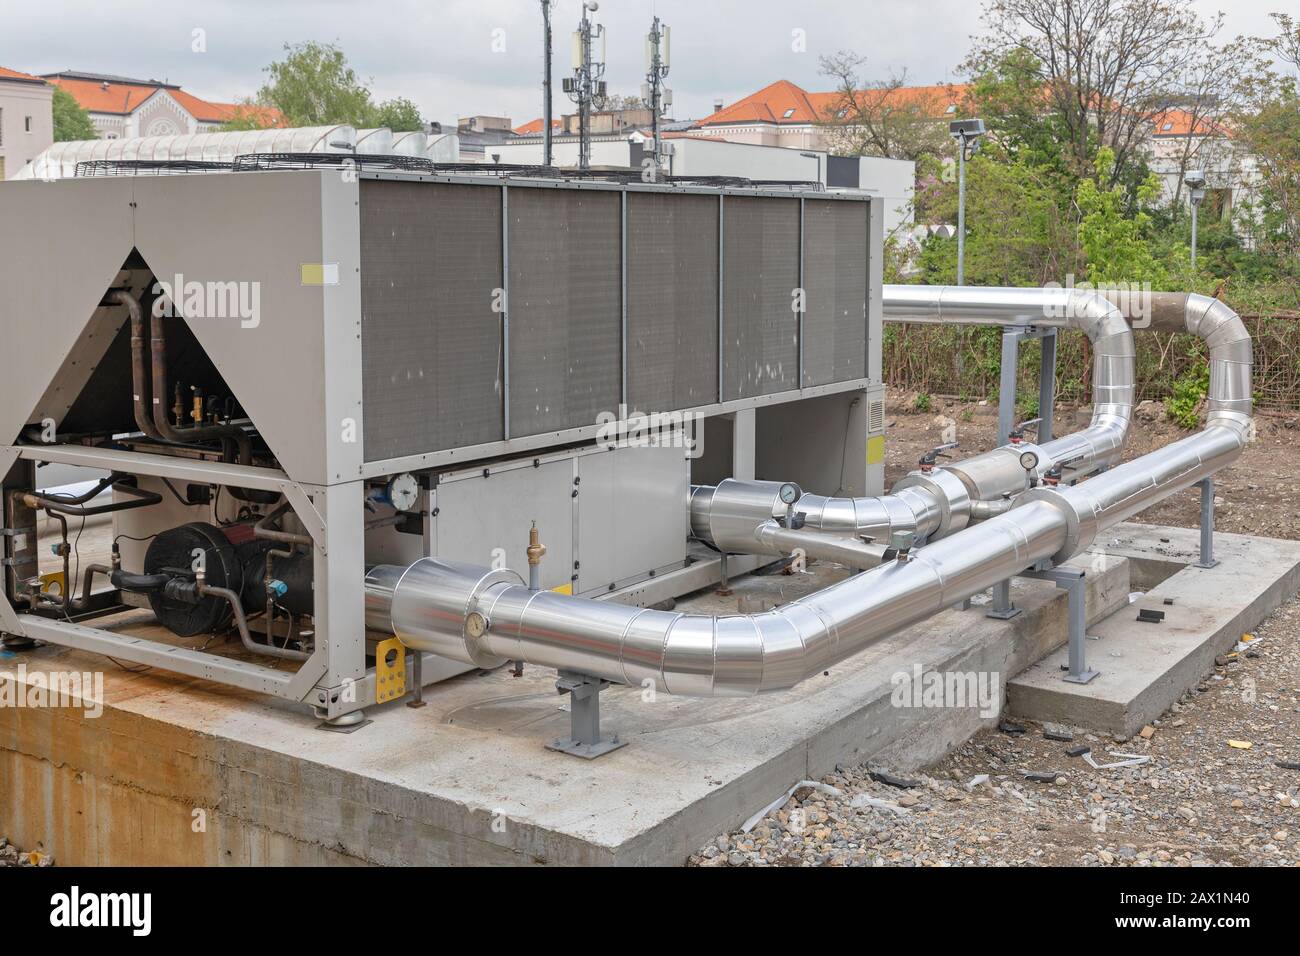
<svg viewBox="0 0 1300 956">
<path fill-rule="evenodd" d="M 500 191 L 361 182 L 365 459 L 503 437 Z"/>
</svg>

